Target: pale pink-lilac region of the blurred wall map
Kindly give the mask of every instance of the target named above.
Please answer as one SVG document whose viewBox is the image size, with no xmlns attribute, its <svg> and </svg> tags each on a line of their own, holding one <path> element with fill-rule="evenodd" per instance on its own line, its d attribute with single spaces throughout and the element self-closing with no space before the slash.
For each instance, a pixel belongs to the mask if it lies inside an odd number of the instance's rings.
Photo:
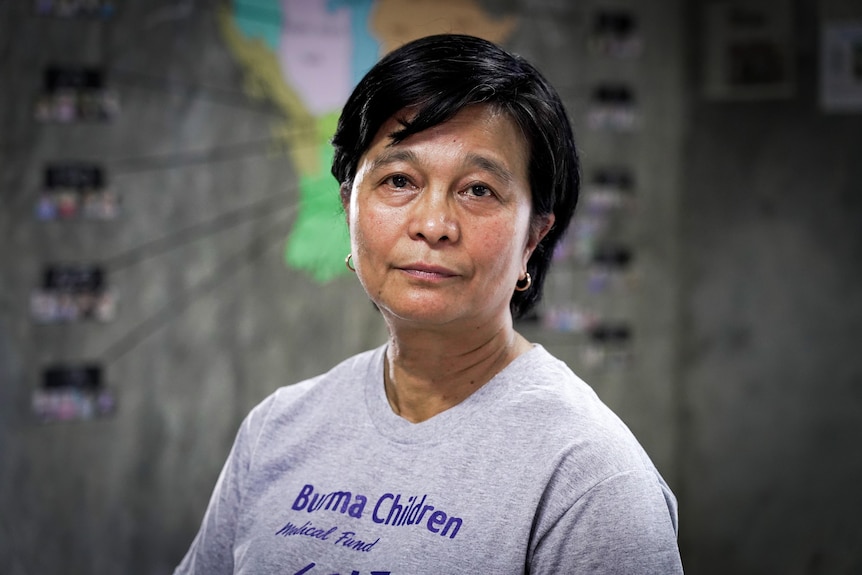
<svg viewBox="0 0 862 575">
<path fill-rule="evenodd" d="M 353 89 L 350 11 L 326 4 L 282 0 L 281 73 L 315 116 L 339 110 Z"/>
</svg>

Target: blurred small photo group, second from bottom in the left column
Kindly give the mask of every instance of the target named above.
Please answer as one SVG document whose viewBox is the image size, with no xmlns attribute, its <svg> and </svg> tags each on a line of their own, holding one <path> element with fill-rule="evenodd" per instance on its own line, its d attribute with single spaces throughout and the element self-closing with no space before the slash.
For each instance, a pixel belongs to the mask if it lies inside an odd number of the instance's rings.
<svg viewBox="0 0 862 575">
<path fill-rule="evenodd" d="M 39 323 L 113 320 L 117 297 L 105 276 L 100 266 L 47 266 L 41 287 L 30 296 L 33 319 Z"/>
</svg>

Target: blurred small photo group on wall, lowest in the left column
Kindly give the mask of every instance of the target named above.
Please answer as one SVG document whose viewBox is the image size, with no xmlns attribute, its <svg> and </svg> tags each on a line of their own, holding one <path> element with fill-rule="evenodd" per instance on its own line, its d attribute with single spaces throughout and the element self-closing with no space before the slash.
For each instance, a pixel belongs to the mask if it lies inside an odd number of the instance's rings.
<svg viewBox="0 0 862 575">
<path fill-rule="evenodd" d="M 99 364 L 56 364 L 42 372 L 33 392 L 33 414 L 42 422 L 86 421 L 111 415 L 114 394 L 102 380 Z"/>
</svg>

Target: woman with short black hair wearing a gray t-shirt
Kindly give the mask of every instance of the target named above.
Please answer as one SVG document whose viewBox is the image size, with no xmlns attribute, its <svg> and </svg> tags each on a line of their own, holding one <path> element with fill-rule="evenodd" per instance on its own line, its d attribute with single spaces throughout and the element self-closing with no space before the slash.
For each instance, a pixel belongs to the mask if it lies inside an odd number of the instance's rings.
<svg viewBox="0 0 862 575">
<path fill-rule="evenodd" d="M 389 341 L 249 414 L 176 572 L 681 573 L 647 455 L 513 329 L 577 201 L 554 90 L 484 40 L 424 38 L 360 82 L 333 145 Z"/>
</svg>

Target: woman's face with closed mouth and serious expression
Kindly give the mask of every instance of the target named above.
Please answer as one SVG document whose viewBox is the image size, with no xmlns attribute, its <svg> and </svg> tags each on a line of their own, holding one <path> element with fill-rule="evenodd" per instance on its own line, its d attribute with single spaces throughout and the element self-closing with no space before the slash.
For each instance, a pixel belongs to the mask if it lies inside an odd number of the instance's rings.
<svg viewBox="0 0 862 575">
<path fill-rule="evenodd" d="M 531 233 L 523 134 L 481 105 L 393 144 L 400 128 L 381 127 L 345 205 L 365 291 L 390 324 L 510 320 L 515 283 L 553 223 Z"/>
</svg>

